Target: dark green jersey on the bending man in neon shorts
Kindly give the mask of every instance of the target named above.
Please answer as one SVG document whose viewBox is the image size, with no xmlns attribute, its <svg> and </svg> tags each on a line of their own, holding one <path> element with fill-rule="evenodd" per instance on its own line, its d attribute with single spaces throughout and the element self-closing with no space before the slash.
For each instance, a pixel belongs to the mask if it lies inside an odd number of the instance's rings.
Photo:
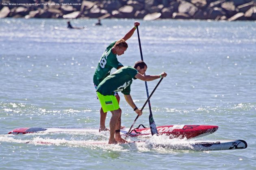
<svg viewBox="0 0 256 170">
<path fill-rule="evenodd" d="M 104 96 L 114 95 L 113 91 L 121 91 L 121 93 L 129 95 L 132 79 L 136 79 L 136 74 L 138 74 L 138 71 L 131 66 L 119 68 L 116 72 L 106 77 L 99 84 L 96 91 Z"/>
</svg>

